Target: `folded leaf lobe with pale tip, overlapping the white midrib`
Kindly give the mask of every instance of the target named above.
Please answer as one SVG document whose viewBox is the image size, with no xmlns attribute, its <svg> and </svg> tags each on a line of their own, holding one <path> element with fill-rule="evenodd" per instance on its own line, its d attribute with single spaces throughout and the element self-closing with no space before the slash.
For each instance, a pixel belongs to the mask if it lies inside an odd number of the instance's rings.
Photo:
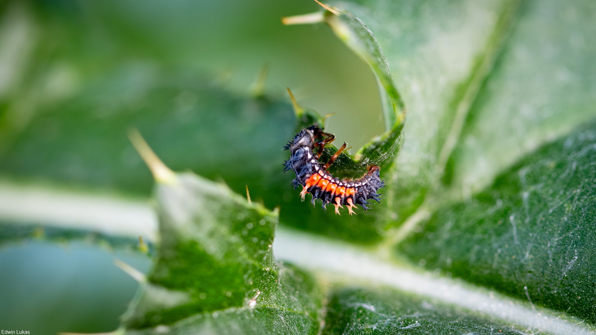
<svg viewBox="0 0 596 335">
<path fill-rule="evenodd" d="M 193 173 L 168 177 L 156 194 L 157 258 L 123 316 L 126 330 L 316 334 L 321 296 L 312 279 L 273 258 L 277 211 Z"/>
</svg>

